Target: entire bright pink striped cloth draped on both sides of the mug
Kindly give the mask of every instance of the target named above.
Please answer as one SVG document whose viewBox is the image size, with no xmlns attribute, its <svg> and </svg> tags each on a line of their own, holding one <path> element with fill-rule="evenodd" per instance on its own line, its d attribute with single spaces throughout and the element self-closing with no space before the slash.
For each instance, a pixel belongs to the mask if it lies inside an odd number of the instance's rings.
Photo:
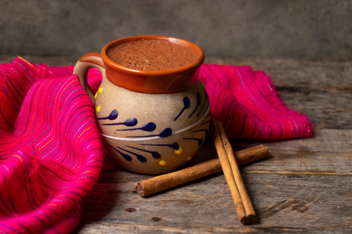
<svg viewBox="0 0 352 234">
<path fill-rule="evenodd" d="M 92 101 L 73 66 L 0 65 L 0 230 L 69 233 L 96 182 L 103 147 Z M 308 118 L 289 110 L 270 77 L 248 66 L 202 65 L 212 117 L 229 137 L 312 136 Z M 96 92 L 101 73 L 88 72 Z"/>
</svg>

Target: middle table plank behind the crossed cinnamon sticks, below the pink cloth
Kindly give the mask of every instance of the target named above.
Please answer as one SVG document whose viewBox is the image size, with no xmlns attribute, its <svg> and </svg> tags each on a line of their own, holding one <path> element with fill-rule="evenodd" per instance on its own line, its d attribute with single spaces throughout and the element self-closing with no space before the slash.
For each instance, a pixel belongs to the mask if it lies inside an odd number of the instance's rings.
<svg viewBox="0 0 352 234">
<path fill-rule="evenodd" d="M 313 138 L 286 141 L 230 139 L 234 150 L 264 144 L 267 159 L 244 165 L 243 173 L 352 175 L 352 130 L 322 129 Z M 207 139 L 189 165 L 217 157 L 211 139 Z M 119 169 L 107 156 L 104 169 Z"/>
</svg>

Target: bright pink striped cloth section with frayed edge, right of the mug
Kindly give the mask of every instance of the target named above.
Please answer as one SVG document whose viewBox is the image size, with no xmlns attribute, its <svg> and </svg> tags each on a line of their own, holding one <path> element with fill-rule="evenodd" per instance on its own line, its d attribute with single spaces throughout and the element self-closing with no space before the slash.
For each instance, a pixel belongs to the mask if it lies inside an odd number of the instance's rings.
<svg viewBox="0 0 352 234">
<path fill-rule="evenodd" d="M 221 121 L 228 137 L 273 140 L 313 134 L 307 116 L 288 109 L 262 71 L 203 65 L 200 79 L 209 95 L 212 118 Z"/>
</svg>

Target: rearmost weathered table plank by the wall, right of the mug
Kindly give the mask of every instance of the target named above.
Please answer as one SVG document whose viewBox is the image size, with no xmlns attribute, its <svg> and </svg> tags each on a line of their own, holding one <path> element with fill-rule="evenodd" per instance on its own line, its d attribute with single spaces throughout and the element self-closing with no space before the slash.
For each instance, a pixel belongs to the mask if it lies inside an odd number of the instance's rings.
<svg viewBox="0 0 352 234">
<path fill-rule="evenodd" d="M 205 63 L 249 65 L 263 70 L 275 86 L 352 86 L 352 59 L 206 58 Z"/>
</svg>

